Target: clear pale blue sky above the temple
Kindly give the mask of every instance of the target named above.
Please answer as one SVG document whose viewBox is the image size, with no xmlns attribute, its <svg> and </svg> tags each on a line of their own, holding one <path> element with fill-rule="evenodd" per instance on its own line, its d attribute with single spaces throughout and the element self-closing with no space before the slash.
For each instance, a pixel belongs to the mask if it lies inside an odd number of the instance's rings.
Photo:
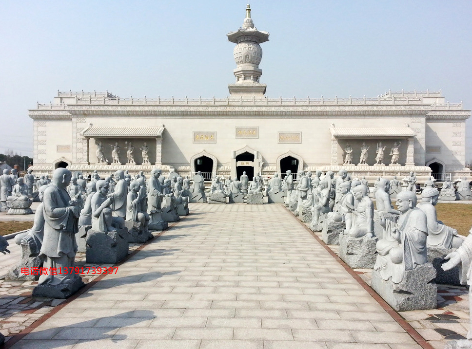
<svg viewBox="0 0 472 349">
<path fill-rule="evenodd" d="M 57 91 L 223 98 L 247 1 L 0 0 L 0 152 L 32 156 L 28 109 Z M 472 1 L 254 0 L 266 96 L 442 90 L 472 109 Z M 467 121 L 472 162 L 472 121 Z"/>
</svg>

